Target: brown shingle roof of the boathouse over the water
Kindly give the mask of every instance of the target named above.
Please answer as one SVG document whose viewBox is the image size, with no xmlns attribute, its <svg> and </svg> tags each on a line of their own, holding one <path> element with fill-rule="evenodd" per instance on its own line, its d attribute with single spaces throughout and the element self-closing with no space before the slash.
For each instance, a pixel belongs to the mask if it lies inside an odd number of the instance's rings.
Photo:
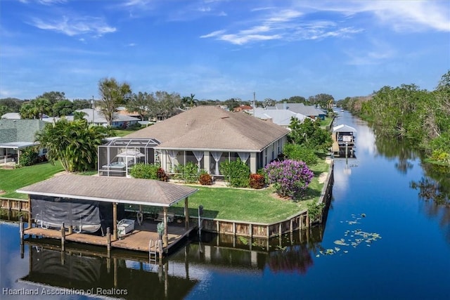
<svg viewBox="0 0 450 300">
<path fill-rule="evenodd" d="M 60 175 L 25 186 L 18 193 L 169 207 L 198 189 L 162 181 Z"/>
</svg>

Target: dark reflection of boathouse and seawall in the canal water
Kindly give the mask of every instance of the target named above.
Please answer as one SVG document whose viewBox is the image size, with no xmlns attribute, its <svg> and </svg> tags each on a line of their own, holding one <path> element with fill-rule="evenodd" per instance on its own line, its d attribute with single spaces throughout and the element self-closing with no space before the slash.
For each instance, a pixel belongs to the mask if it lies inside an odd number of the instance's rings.
<svg viewBox="0 0 450 300">
<path fill-rule="evenodd" d="M 18 234 L 17 228 L 13 231 Z M 203 233 L 157 263 L 149 263 L 146 254 L 113 251 L 108 257 L 101 247 L 73 243 L 63 252 L 58 241 L 27 238 L 21 251 L 29 268 L 18 282 L 84 296 L 184 299 L 217 271 L 262 275 L 269 268 L 304 275 L 322 237 L 321 226 L 270 240 Z"/>
</svg>

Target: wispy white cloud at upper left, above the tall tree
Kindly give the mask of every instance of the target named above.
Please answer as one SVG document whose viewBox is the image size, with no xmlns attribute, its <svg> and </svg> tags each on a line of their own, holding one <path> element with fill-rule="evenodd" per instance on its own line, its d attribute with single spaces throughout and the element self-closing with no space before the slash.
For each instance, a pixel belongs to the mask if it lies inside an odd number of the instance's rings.
<svg viewBox="0 0 450 300">
<path fill-rule="evenodd" d="M 41 30 L 52 30 L 66 34 L 70 37 L 80 34 L 91 34 L 94 37 L 101 37 L 103 34 L 116 31 L 115 27 L 110 27 L 101 18 L 94 17 L 63 17 L 63 20 L 53 22 L 46 22 L 36 18 L 34 19 L 32 25 Z"/>
</svg>

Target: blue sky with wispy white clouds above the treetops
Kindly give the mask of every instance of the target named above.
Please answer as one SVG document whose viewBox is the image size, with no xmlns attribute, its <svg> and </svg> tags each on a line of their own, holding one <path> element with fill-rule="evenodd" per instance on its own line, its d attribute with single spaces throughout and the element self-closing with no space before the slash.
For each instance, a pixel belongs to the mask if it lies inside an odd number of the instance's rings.
<svg viewBox="0 0 450 300">
<path fill-rule="evenodd" d="M 336 100 L 435 89 L 450 69 L 450 1 L 1 0 L 0 98 L 64 91 Z"/>
</svg>

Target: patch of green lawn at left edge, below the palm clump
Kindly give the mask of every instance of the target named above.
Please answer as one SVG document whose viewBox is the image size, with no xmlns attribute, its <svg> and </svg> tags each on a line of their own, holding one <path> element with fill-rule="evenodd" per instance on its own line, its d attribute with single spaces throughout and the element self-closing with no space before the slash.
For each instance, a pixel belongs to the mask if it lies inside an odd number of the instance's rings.
<svg viewBox="0 0 450 300">
<path fill-rule="evenodd" d="M 45 162 L 18 169 L 0 169 L 0 190 L 6 191 L 1 197 L 27 199 L 27 195 L 15 193 L 15 190 L 44 181 L 60 171 L 64 169 L 59 162 L 54 166 Z"/>
</svg>

